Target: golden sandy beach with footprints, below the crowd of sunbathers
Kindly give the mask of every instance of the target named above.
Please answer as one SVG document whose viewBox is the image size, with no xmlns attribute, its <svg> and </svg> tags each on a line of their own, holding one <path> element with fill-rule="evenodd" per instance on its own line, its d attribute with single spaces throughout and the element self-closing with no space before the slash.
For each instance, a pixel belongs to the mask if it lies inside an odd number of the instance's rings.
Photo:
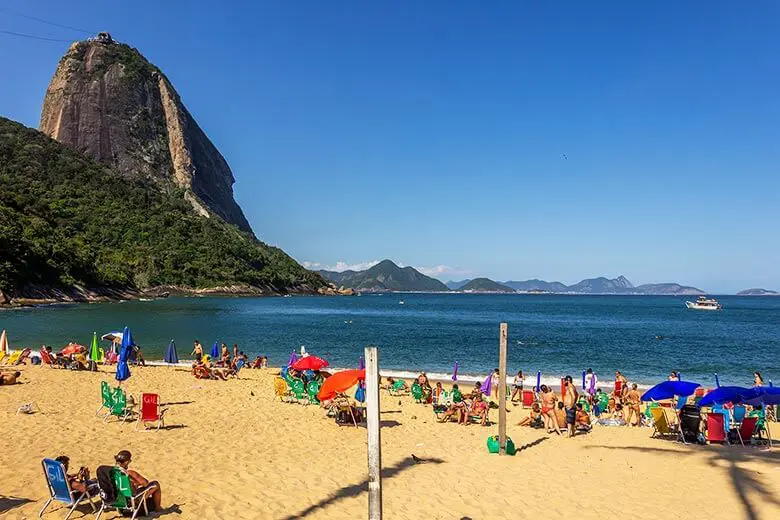
<svg viewBox="0 0 780 520">
<path fill-rule="evenodd" d="M 162 484 L 164 517 L 366 517 L 366 430 L 274 401 L 276 370 L 202 381 L 184 368 L 133 368 L 128 392 L 168 403 L 168 429 L 153 433 L 95 416 L 100 381 L 115 383 L 103 370 L 28 365 L 23 384 L 0 387 L 0 516 L 37 517 L 47 498 L 43 457 L 65 454 L 94 474 L 128 449 L 132 466 Z M 16 415 L 29 401 L 42 412 Z M 522 449 L 499 457 L 485 447 L 495 426 L 438 424 L 430 406 L 386 392 L 381 406 L 385 518 L 780 517 L 777 447 L 682 445 L 628 427 L 567 439 L 515 426 L 527 411 L 510 405 L 508 434 Z M 83 516 L 88 507 L 72 518 Z"/>
</svg>

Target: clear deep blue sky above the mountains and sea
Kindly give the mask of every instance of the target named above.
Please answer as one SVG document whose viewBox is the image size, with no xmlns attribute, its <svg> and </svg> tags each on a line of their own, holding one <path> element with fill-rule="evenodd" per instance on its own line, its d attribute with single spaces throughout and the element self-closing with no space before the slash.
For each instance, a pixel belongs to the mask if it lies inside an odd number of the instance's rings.
<svg viewBox="0 0 780 520">
<path fill-rule="evenodd" d="M 301 262 L 780 289 L 780 3 L 543 4 L 9 0 L 0 30 L 137 47 Z M 0 114 L 37 126 L 67 46 L 0 34 Z"/>
</svg>

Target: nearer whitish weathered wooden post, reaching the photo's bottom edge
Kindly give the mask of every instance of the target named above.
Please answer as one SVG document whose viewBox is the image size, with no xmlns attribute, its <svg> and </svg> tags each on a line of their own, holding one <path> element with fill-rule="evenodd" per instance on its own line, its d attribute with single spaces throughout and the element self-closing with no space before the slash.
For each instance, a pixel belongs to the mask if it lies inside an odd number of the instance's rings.
<svg viewBox="0 0 780 520">
<path fill-rule="evenodd" d="M 379 352 L 366 347 L 368 429 L 368 519 L 382 520 L 382 441 L 379 435 Z"/>
</svg>

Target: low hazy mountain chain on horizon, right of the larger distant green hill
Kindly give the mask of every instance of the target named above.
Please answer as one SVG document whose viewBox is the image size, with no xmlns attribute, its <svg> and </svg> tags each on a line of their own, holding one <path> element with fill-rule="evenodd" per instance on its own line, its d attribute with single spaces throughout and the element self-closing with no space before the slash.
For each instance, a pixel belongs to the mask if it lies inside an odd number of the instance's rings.
<svg viewBox="0 0 780 520">
<path fill-rule="evenodd" d="M 488 280 L 481 278 L 480 280 Z M 464 290 L 471 280 L 461 280 L 458 282 L 447 282 L 447 287 L 451 290 Z M 492 280 L 488 280 L 492 281 Z M 497 283 L 497 282 L 494 282 Z M 525 281 L 510 280 L 507 282 L 498 282 L 502 287 L 511 288 L 517 292 L 546 292 L 561 294 L 647 294 L 647 295 L 701 295 L 704 291 L 688 285 L 677 283 L 648 283 L 634 286 L 625 276 L 618 276 L 614 279 L 605 277 L 588 278 L 574 285 L 565 285 L 561 282 L 547 282 L 545 280 L 533 279 Z M 481 283 L 484 285 L 484 282 Z M 490 291 L 493 292 L 493 291 Z"/>
</svg>

